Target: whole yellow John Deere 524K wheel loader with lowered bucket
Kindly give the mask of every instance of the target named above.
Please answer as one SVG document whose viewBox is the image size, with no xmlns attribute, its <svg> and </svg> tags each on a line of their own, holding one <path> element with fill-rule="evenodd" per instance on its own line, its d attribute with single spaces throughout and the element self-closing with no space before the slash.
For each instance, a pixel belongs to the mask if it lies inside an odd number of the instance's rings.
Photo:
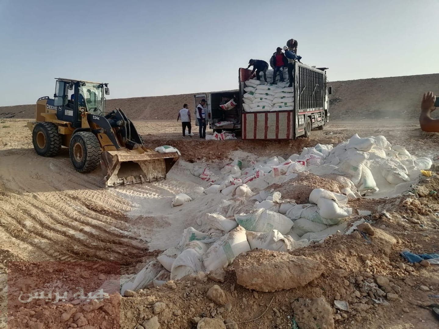
<svg viewBox="0 0 439 329">
<path fill-rule="evenodd" d="M 120 108 L 105 111 L 109 93 L 108 83 L 56 79 L 54 98 L 39 98 L 36 122 L 27 124 L 36 153 L 54 157 L 68 147 L 78 172 L 101 164 L 106 186 L 166 179 L 179 155 L 145 147 Z"/>
</svg>

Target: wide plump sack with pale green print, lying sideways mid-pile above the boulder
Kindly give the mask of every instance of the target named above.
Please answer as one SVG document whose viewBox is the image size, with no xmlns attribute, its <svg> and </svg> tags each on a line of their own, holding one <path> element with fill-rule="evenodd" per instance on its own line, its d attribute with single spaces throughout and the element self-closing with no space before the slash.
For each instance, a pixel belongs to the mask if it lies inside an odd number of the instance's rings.
<svg viewBox="0 0 439 329">
<path fill-rule="evenodd" d="M 265 209 L 250 214 L 235 215 L 235 220 L 248 231 L 270 232 L 277 229 L 282 234 L 286 234 L 294 224 L 288 217 Z"/>
</svg>

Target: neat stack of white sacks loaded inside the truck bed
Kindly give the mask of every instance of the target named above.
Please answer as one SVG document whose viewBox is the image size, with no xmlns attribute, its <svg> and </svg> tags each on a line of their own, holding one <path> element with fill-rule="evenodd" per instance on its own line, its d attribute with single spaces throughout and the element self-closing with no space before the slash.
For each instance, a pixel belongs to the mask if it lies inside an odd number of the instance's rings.
<svg viewBox="0 0 439 329">
<path fill-rule="evenodd" d="M 264 84 L 260 80 L 251 79 L 245 82 L 245 112 L 288 111 L 294 109 L 294 87 L 288 82 Z"/>
</svg>

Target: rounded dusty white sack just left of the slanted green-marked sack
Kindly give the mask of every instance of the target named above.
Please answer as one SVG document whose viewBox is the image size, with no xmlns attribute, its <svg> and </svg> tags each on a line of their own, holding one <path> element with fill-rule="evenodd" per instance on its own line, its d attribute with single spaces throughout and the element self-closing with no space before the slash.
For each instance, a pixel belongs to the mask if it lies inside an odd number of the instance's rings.
<svg viewBox="0 0 439 329">
<path fill-rule="evenodd" d="M 204 272 L 202 255 L 195 249 L 186 249 L 175 259 L 171 268 L 171 280 L 178 280 L 186 275 Z"/>
</svg>

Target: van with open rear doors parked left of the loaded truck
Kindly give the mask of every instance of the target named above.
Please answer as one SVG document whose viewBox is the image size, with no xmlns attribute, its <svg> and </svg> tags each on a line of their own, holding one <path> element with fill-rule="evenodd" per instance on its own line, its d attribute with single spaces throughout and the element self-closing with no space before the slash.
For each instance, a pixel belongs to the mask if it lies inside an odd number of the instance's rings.
<svg viewBox="0 0 439 329">
<path fill-rule="evenodd" d="M 200 104 L 202 99 L 206 100 L 206 120 L 209 125 L 209 129 L 213 129 L 213 131 L 221 131 L 221 130 L 238 130 L 241 129 L 241 97 L 239 96 L 239 90 L 225 90 L 225 91 L 217 91 L 213 93 L 200 93 L 194 95 L 195 100 L 195 110 L 194 115 L 197 117 L 197 106 Z M 237 101 L 237 105 L 228 110 L 224 111 L 220 105 L 226 104 L 231 99 Z M 222 121 L 231 121 L 230 125 L 223 125 L 221 127 L 217 127 L 215 124 L 217 122 Z M 198 120 L 195 121 L 195 125 L 198 126 Z"/>
</svg>

